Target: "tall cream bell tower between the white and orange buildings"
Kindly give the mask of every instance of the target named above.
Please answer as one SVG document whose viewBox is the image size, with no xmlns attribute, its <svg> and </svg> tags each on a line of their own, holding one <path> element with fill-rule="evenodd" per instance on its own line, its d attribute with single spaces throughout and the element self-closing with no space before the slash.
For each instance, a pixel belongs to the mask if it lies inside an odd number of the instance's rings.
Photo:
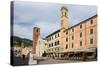
<svg viewBox="0 0 100 67">
<path fill-rule="evenodd" d="M 61 30 L 60 30 L 62 49 L 65 49 L 66 47 L 66 32 L 64 32 L 66 29 L 68 29 L 68 9 L 63 6 L 61 7 Z"/>
</svg>

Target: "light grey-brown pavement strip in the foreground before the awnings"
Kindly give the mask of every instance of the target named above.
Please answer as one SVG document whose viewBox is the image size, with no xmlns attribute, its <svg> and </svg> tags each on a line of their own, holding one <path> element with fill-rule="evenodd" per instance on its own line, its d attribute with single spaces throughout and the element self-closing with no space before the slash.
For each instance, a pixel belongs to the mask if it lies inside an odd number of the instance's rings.
<svg viewBox="0 0 100 67">
<path fill-rule="evenodd" d="M 81 61 L 47 59 L 47 60 L 38 61 L 38 64 L 57 64 L 57 63 L 74 63 L 74 62 L 81 62 Z"/>
</svg>

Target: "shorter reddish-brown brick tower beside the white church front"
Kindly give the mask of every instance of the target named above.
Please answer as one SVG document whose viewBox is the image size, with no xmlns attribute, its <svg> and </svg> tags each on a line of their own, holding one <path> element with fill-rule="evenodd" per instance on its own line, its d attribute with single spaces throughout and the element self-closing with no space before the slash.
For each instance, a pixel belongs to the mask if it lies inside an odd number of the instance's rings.
<svg viewBox="0 0 100 67">
<path fill-rule="evenodd" d="M 34 27 L 33 28 L 33 54 L 36 53 L 36 45 L 37 45 L 37 41 L 39 39 L 40 36 L 40 28 L 38 27 Z"/>
</svg>

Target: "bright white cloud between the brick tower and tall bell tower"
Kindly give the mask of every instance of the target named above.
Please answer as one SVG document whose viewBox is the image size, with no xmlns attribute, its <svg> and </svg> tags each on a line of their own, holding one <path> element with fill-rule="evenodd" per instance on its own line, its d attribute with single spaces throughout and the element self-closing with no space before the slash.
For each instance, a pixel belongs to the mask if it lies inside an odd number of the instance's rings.
<svg viewBox="0 0 100 67">
<path fill-rule="evenodd" d="M 46 21 L 38 21 L 35 26 L 40 28 L 42 37 L 45 37 L 60 28 L 58 22 L 51 23 Z"/>
</svg>

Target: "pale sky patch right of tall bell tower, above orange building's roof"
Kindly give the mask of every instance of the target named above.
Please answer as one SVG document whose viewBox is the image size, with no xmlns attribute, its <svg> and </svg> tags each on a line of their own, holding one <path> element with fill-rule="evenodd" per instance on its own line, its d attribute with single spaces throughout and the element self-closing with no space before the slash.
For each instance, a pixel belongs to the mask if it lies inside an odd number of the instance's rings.
<svg viewBox="0 0 100 67">
<path fill-rule="evenodd" d="M 75 25 L 95 14 L 97 14 L 96 6 L 88 5 L 68 5 L 70 26 Z"/>
</svg>

